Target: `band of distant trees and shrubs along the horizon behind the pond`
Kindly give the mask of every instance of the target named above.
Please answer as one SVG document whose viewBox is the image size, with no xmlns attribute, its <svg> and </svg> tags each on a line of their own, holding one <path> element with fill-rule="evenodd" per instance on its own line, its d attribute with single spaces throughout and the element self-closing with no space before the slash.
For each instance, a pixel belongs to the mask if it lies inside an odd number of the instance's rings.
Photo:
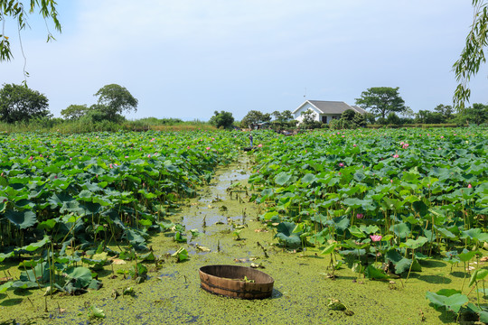
<svg viewBox="0 0 488 325">
<path fill-rule="evenodd" d="M 62 117 L 53 117 L 49 100 L 37 90 L 25 85 L 4 84 L 0 88 L 0 132 L 117 132 L 117 131 L 190 131 L 232 129 L 240 127 L 269 128 L 281 130 L 306 130 L 316 128 L 355 129 L 359 127 L 432 127 L 469 126 L 488 123 L 488 105 L 475 103 L 461 112 L 449 105 L 437 105 L 433 111 L 414 112 L 404 105 L 399 97 L 399 88 L 369 88 L 362 92 L 356 104 L 369 112 L 361 115 L 347 110 L 340 118 L 329 124 L 315 121 L 314 116 L 304 112 L 303 123 L 297 125 L 293 113 L 262 113 L 250 110 L 241 121 L 236 121 L 231 112 L 215 111 L 209 121 L 183 121 L 179 118 L 145 117 L 127 120 L 123 113 L 136 111 L 138 101 L 127 88 L 110 84 L 95 94 L 96 104 L 73 104 L 61 110 Z"/>
</svg>

